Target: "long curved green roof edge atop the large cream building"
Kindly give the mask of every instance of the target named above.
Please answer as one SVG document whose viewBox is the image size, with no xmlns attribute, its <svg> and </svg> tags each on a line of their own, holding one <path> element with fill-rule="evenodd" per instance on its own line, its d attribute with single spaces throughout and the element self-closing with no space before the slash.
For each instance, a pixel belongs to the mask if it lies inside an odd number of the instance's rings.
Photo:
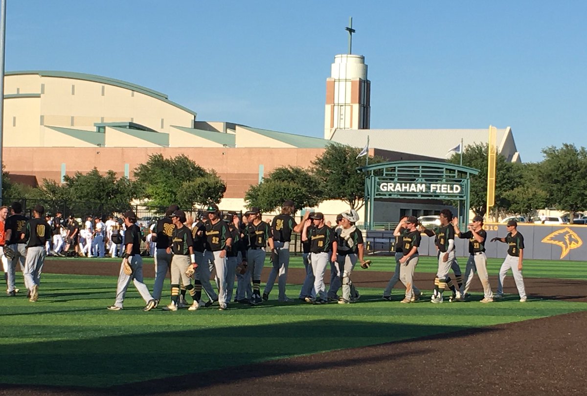
<svg viewBox="0 0 587 396">
<path fill-rule="evenodd" d="M 76 80 L 87 80 L 93 81 L 96 83 L 103 83 L 109 84 L 117 87 L 121 87 L 124 89 L 133 90 L 135 92 L 140 92 L 146 94 L 148 96 L 154 97 L 155 99 L 163 100 L 166 103 L 171 104 L 172 106 L 177 107 L 178 109 L 187 111 L 187 113 L 193 114 L 193 116 L 197 116 L 197 113 L 193 110 L 188 109 L 187 107 L 181 106 L 181 104 L 175 103 L 168 99 L 167 95 L 161 92 L 158 92 L 153 89 L 149 89 L 147 87 L 143 87 L 137 84 L 129 83 L 123 80 L 111 79 L 110 77 L 98 76 L 98 75 L 89 75 L 86 73 L 76 73 L 76 72 L 62 72 L 58 70 L 18 70 L 14 72 L 6 72 L 6 76 L 14 76 L 14 75 L 39 75 L 42 77 L 60 77 L 65 79 L 76 79 Z"/>
</svg>

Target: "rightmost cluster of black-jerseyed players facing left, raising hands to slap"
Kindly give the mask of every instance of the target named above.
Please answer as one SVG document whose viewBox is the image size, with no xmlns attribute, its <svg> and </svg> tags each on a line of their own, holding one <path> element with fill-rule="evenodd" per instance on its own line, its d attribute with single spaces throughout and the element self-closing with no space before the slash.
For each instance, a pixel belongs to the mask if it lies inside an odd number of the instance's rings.
<svg viewBox="0 0 587 396">
<path fill-rule="evenodd" d="M 391 300 L 390 293 L 393 286 L 398 280 L 401 280 L 406 287 L 406 295 L 402 303 L 410 303 L 419 300 L 421 297 L 420 290 L 413 283 L 414 269 L 418 263 L 418 247 L 421 242 L 421 234 L 432 237 L 437 248 L 438 271 L 434 278 L 434 290 L 430 301 L 432 303 L 442 303 L 444 301 L 443 293 L 446 289 L 451 291 L 448 297 L 449 302 L 465 300 L 468 297 L 468 290 L 471 286 L 474 273 L 477 272 L 481 285 L 483 286 L 482 303 L 491 303 L 496 298 L 503 297 L 503 282 L 508 270 L 512 270 L 515 284 L 518 288 L 519 301 L 525 302 L 527 299 L 524 279 L 522 277 L 522 260 L 524 258 L 524 237 L 517 231 L 517 222 L 508 221 L 508 234 L 504 238 L 493 238 L 491 242 L 500 241 L 508 244 L 508 254 L 501 265 L 497 293 L 492 293 L 487 272 L 487 256 L 485 256 L 485 242 L 487 233 L 483 229 L 483 217 L 475 216 L 472 224 L 468 225 L 468 231 L 461 232 L 458 229 L 458 219 L 453 218 L 453 214 L 448 209 L 440 211 L 440 227 L 437 232 L 426 229 L 418 225 L 414 216 L 402 218 L 397 225 L 394 235 L 396 241 L 396 271 L 392 279 L 389 280 L 386 289 L 383 292 L 384 300 Z M 465 269 L 465 277 L 460 266 L 458 265 L 455 255 L 454 238 L 458 236 L 461 239 L 468 239 L 469 258 Z M 453 271 L 455 286 L 449 273 Z"/>
</svg>

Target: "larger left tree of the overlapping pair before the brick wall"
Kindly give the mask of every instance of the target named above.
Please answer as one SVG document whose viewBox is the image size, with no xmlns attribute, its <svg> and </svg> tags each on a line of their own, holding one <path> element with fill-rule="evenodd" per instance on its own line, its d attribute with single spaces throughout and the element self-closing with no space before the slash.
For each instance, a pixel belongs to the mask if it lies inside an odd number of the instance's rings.
<svg viewBox="0 0 587 396">
<path fill-rule="evenodd" d="M 150 204 L 166 207 L 178 202 L 178 193 L 186 181 L 205 177 L 208 172 L 187 156 L 164 158 L 163 154 L 149 155 L 147 163 L 134 170 L 137 195 Z"/>
</svg>

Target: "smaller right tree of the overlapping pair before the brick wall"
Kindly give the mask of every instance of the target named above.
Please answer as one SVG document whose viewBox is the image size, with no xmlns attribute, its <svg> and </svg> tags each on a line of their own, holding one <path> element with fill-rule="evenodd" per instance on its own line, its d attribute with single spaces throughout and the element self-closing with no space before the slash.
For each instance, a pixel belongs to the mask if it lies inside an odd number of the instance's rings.
<svg viewBox="0 0 587 396">
<path fill-rule="evenodd" d="M 177 192 L 177 204 L 182 208 L 218 204 L 224 197 L 226 184 L 215 171 L 204 177 L 185 181 Z"/>
</svg>

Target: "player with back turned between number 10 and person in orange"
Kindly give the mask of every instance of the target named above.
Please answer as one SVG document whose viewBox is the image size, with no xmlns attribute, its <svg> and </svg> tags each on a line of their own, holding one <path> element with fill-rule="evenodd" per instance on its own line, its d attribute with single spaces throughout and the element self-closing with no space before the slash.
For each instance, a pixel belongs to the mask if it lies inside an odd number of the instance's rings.
<svg viewBox="0 0 587 396">
<path fill-rule="evenodd" d="M 13 202 L 11 206 L 12 215 L 6 219 L 4 225 L 6 232 L 6 244 L 15 253 L 12 260 L 8 260 L 8 295 L 16 293 L 15 287 L 15 272 L 16 263 L 20 263 L 21 270 L 24 272 L 25 269 L 25 258 L 26 258 L 26 241 L 22 239 L 25 225 L 28 219 L 22 215 L 21 202 Z M 30 297 L 30 296 L 29 296 Z"/>
</svg>

